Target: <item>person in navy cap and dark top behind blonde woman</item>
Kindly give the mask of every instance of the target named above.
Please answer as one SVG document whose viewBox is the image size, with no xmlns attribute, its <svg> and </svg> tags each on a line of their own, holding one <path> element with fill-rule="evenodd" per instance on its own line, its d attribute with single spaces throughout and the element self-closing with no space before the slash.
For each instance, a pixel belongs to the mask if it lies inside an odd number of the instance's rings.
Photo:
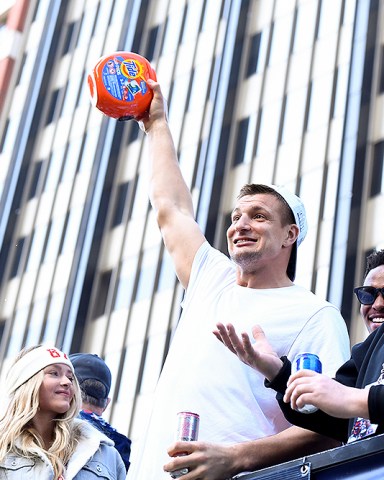
<svg viewBox="0 0 384 480">
<path fill-rule="evenodd" d="M 116 450 L 128 471 L 131 440 L 119 433 L 102 417 L 111 399 L 108 397 L 112 375 L 102 358 L 92 353 L 73 353 L 69 356 L 80 384 L 82 408 L 80 418 L 87 420 L 115 443 Z"/>
</svg>

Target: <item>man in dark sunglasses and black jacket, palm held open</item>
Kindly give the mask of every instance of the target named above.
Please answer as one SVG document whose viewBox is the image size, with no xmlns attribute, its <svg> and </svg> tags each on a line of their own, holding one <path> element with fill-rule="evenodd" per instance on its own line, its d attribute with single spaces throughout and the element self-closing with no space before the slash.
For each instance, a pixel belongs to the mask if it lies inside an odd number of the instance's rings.
<svg viewBox="0 0 384 480">
<path fill-rule="evenodd" d="M 354 292 L 371 334 L 352 348 L 334 379 L 309 370 L 290 375 L 291 362 L 278 357 L 258 326 L 253 344 L 247 334 L 237 336 L 232 325 L 218 324 L 215 332 L 240 360 L 265 375 L 289 422 L 348 443 L 384 433 L 384 250 L 367 258 L 364 285 Z M 319 410 L 299 413 L 305 404 Z"/>
</svg>

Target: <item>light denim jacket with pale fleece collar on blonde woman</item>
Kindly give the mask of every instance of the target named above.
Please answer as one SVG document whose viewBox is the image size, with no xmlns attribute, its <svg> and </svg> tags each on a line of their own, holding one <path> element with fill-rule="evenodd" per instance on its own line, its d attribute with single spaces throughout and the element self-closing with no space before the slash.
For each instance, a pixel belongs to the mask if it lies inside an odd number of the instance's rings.
<svg viewBox="0 0 384 480">
<path fill-rule="evenodd" d="M 126 470 L 113 442 L 92 425 L 80 424 L 82 439 L 67 465 L 64 480 L 125 480 Z M 0 462 L 0 480 L 56 480 L 48 458 L 25 458 L 14 453 Z"/>
</svg>

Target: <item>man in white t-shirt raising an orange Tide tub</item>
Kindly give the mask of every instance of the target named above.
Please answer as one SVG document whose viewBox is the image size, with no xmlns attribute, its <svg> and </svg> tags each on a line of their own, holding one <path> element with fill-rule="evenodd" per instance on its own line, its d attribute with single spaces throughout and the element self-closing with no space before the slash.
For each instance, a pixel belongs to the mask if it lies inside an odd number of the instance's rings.
<svg viewBox="0 0 384 480">
<path fill-rule="evenodd" d="M 150 200 L 185 298 L 128 479 L 169 479 L 169 472 L 187 468 L 182 479 L 223 480 L 334 446 L 291 427 L 264 377 L 213 334 L 220 322 L 249 333 L 258 323 L 280 355 L 317 353 L 330 375 L 349 357 L 338 309 L 293 283 L 307 231 L 301 200 L 284 187 L 244 186 L 227 231 L 231 258 L 212 248 L 195 221 L 160 87 L 148 83 L 154 98 L 142 127 Z M 174 442 L 179 411 L 200 415 L 198 441 Z"/>
</svg>

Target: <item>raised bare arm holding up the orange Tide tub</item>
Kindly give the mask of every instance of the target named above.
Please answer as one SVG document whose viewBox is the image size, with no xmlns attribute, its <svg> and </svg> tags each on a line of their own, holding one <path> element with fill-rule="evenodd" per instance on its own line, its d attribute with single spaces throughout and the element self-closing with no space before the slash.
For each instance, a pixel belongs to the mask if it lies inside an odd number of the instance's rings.
<svg viewBox="0 0 384 480">
<path fill-rule="evenodd" d="M 149 114 L 140 124 L 149 141 L 149 196 L 165 247 L 186 288 L 193 259 L 205 237 L 195 221 L 191 193 L 181 174 L 160 85 L 152 80 L 148 80 L 148 85 L 154 97 Z"/>
</svg>

